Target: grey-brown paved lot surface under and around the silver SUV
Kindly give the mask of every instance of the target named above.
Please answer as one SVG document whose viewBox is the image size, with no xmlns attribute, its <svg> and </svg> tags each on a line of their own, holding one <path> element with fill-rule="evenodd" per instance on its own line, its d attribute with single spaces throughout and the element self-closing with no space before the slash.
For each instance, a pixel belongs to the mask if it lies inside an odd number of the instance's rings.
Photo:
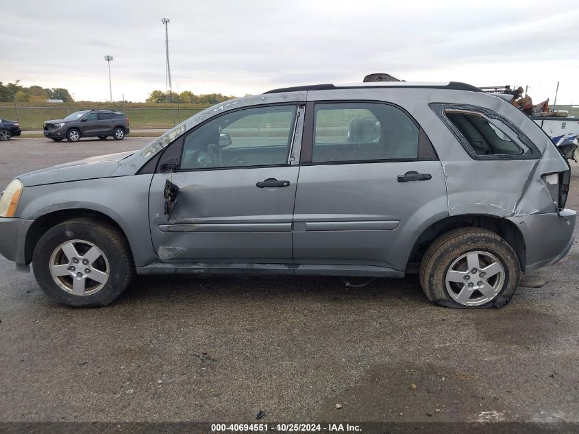
<svg viewBox="0 0 579 434">
<path fill-rule="evenodd" d="M 0 186 L 149 141 L 0 142 Z M 576 243 L 500 310 L 432 306 L 415 276 L 141 276 L 83 310 L 0 257 L 0 422 L 579 422 L 578 265 Z"/>
</svg>

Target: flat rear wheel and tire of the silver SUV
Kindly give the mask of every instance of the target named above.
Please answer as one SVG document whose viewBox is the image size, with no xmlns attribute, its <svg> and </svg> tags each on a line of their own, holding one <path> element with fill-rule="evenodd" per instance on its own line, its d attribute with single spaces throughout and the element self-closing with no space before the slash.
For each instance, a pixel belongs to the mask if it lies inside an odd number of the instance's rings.
<svg viewBox="0 0 579 434">
<path fill-rule="evenodd" d="M 515 295 L 520 278 L 513 248 L 483 228 L 443 234 L 420 264 L 420 283 L 428 300 L 453 308 L 502 307 Z"/>
</svg>

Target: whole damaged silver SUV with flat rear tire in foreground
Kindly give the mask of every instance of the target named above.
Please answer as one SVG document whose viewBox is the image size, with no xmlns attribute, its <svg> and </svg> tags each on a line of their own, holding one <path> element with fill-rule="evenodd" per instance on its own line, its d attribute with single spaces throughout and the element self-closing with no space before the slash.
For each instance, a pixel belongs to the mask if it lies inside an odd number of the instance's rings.
<svg viewBox="0 0 579 434">
<path fill-rule="evenodd" d="M 569 176 L 537 124 L 467 84 L 284 88 L 19 176 L 0 253 L 71 306 L 109 304 L 135 272 L 418 271 L 434 303 L 502 306 L 571 248 Z"/>
</svg>

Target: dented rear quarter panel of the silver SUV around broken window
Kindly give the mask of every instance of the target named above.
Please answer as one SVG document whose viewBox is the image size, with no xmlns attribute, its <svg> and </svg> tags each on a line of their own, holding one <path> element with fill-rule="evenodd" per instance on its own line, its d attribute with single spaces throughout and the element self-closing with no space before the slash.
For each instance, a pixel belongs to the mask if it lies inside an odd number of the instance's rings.
<svg viewBox="0 0 579 434">
<path fill-rule="evenodd" d="M 321 99 L 322 96 L 327 100 L 386 101 L 404 108 L 414 117 L 441 160 L 451 216 L 513 217 L 556 212 L 541 174 L 565 171 L 567 162 L 536 123 L 500 97 L 482 92 L 428 88 L 353 88 L 308 93 L 308 99 Z M 541 158 L 474 160 L 430 108 L 431 103 L 464 104 L 493 110 L 522 130 L 539 149 Z"/>
</svg>

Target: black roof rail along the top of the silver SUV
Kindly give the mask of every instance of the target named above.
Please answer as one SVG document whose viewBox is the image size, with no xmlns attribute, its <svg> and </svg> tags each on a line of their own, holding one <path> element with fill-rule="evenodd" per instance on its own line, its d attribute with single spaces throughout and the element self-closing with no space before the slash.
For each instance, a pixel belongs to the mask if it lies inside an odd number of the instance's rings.
<svg viewBox="0 0 579 434">
<path fill-rule="evenodd" d="M 357 84 L 310 84 L 308 86 L 293 86 L 273 89 L 265 93 L 284 93 L 284 92 L 300 92 L 300 91 L 330 91 L 334 89 L 357 89 L 357 88 L 428 88 L 428 89 L 446 89 L 452 91 L 470 91 L 482 92 L 480 88 L 472 86 L 471 84 L 460 82 L 448 83 L 421 83 L 421 82 L 367 82 Z"/>
</svg>

